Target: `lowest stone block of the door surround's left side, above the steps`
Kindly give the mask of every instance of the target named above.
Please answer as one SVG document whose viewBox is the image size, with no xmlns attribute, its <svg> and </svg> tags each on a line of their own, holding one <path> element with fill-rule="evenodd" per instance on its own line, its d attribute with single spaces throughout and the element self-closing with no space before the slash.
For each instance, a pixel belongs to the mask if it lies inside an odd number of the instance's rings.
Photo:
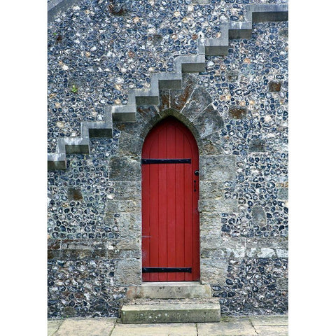
<svg viewBox="0 0 336 336">
<path fill-rule="evenodd" d="M 116 286 L 132 286 L 141 283 L 141 260 L 123 259 L 117 260 L 114 272 Z"/>
</svg>

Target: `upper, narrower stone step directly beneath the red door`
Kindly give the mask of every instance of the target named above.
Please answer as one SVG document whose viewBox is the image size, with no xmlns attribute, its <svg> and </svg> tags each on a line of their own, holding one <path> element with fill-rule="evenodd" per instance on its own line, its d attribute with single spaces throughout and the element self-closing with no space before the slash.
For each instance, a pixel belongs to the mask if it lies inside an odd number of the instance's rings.
<svg viewBox="0 0 336 336">
<path fill-rule="evenodd" d="M 130 286 L 127 299 L 148 297 L 151 299 L 185 299 L 197 297 L 212 297 L 211 287 L 195 281 L 148 282 L 141 286 Z"/>
</svg>

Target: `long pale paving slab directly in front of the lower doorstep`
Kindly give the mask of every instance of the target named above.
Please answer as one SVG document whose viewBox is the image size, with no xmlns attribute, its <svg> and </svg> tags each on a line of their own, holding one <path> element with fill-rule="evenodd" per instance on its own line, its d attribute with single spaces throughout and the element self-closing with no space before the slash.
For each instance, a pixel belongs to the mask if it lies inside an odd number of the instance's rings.
<svg viewBox="0 0 336 336">
<path fill-rule="evenodd" d="M 195 323 L 117 323 L 111 336 L 197 336 Z"/>
</svg>

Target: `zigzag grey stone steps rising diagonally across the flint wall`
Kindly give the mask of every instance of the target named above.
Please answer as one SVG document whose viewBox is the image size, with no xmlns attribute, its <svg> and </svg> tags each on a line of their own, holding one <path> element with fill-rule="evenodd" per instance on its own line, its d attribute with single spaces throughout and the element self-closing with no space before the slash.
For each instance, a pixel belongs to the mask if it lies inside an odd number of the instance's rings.
<svg viewBox="0 0 336 336">
<path fill-rule="evenodd" d="M 113 122 L 135 123 L 137 106 L 159 104 L 160 90 L 179 90 L 182 73 L 205 71 L 206 56 L 227 55 L 229 39 L 251 38 L 252 23 L 288 20 L 287 4 L 246 5 L 246 21 L 227 21 L 221 25 L 221 38 L 199 38 L 197 55 L 181 55 L 175 58 L 175 71 L 153 73 L 151 88 L 128 92 L 125 105 L 106 105 L 104 121 L 81 123 L 80 137 L 64 137 L 58 140 L 55 153 L 48 153 L 48 169 L 66 169 L 66 154 L 89 154 L 90 138 L 111 138 Z"/>
</svg>

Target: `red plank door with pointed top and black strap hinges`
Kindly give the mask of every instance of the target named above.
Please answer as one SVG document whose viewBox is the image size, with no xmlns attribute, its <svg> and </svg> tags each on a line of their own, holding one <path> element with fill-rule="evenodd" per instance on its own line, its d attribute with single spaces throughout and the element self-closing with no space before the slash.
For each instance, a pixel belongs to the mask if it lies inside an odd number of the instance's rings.
<svg viewBox="0 0 336 336">
<path fill-rule="evenodd" d="M 198 148 L 188 128 L 169 117 L 142 150 L 144 281 L 200 279 Z"/>
</svg>

